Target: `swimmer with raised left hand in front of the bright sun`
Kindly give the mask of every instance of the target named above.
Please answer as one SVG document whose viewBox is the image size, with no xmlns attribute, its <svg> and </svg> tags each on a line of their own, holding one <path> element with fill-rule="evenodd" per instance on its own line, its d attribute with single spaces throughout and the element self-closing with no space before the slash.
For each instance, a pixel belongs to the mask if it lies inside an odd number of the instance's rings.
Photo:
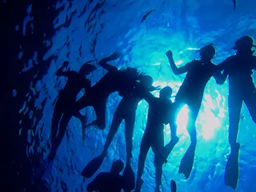
<svg viewBox="0 0 256 192">
<path fill-rule="evenodd" d="M 180 86 L 179 92 L 175 97 L 176 108 L 179 108 L 182 104 L 187 104 L 189 107 L 189 120 L 187 129 L 189 132 L 191 145 L 182 158 L 179 169 L 179 173 L 184 173 L 187 179 L 191 173 L 195 157 L 195 124 L 204 96 L 205 86 L 212 76 L 216 79 L 218 84 L 220 84 L 221 81 L 220 70 L 218 70 L 217 66 L 211 62 L 212 58 L 214 58 L 215 52 L 216 51 L 213 44 L 206 45 L 200 49 L 201 60 L 193 60 L 180 68 L 175 65 L 172 51 L 166 52 L 166 56 L 169 59 L 170 66 L 175 75 L 188 72 L 182 85 Z"/>
</svg>

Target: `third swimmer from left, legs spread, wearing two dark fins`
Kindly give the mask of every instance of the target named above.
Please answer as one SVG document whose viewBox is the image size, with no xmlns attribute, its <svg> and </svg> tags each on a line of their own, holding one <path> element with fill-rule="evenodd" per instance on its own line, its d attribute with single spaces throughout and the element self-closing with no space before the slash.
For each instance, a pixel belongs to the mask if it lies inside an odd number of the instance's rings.
<svg viewBox="0 0 256 192">
<path fill-rule="evenodd" d="M 138 103 L 143 99 L 143 92 L 152 92 L 157 90 L 158 87 L 152 86 L 153 78 L 150 76 L 141 76 L 140 83 L 136 82 L 132 90 L 124 90 L 119 92 L 119 95 L 122 96 L 122 100 L 116 108 L 115 114 L 113 116 L 113 121 L 104 145 L 104 150 L 100 156 L 95 157 L 87 166 L 84 168 L 83 175 L 92 177 L 92 175 L 99 169 L 100 165 L 103 163 L 104 158 L 108 154 L 108 148 L 113 138 L 118 131 L 118 127 L 122 123 L 122 120 L 125 121 L 125 141 L 126 141 L 126 152 L 127 152 L 127 161 L 124 170 L 123 176 L 127 178 L 129 183 L 127 188 L 133 190 L 135 188 L 135 177 L 131 168 L 131 158 L 132 158 L 132 136 L 136 118 L 136 109 Z"/>
</svg>

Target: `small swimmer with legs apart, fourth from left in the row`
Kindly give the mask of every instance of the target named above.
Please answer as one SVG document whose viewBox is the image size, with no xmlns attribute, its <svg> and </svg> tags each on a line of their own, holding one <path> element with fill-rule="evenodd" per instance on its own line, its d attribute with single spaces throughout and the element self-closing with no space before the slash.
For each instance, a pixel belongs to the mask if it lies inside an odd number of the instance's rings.
<svg viewBox="0 0 256 192">
<path fill-rule="evenodd" d="M 170 122 L 170 111 L 172 110 L 172 101 L 170 100 L 171 95 L 172 88 L 166 86 L 161 89 L 159 98 L 154 97 L 151 93 L 148 93 L 145 97 L 145 100 L 148 102 L 148 118 L 147 126 L 140 145 L 136 192 L 141 191 L 141 186 L 143 184 L 141 177 L 143 175 L 145 161 L 150 147 L 152 147 L 155 154 L 156 191 L 160 190 L 164 163 L 164 157 L 162 155 L 164 153 L 163 129 L 164 124 Z"/>
</svg>

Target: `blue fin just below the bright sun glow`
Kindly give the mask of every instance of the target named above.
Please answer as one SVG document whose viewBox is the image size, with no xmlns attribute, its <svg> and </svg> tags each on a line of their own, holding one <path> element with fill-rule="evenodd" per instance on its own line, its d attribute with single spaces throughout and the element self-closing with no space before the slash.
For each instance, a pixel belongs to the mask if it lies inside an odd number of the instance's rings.
<svg viewBox="0 0 256 192">
<path fill-rule="evenodd" d="M 189 178 L 189 175 L 193 168 L 195 149 L 196 147 L 194 145 L 190 145 L 186 154 L 180 162 L 179 173 L 183 173 L 186 179 Z"/>
</svg>

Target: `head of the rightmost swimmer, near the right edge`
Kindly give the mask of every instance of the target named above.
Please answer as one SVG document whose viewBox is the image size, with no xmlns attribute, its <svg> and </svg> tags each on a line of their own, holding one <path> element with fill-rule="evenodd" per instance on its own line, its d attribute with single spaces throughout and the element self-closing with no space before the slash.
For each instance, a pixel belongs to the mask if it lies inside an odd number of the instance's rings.
<svg viewBox="0 0 256 192">
<path fill-rule="evenodd" d="M 239 38 L 232 49 L 236 49 L 237 51 L 252 51 L 252 47 L 256 47 L 253 42 L 252 36 L 246 35 Z"/>
</svg>

